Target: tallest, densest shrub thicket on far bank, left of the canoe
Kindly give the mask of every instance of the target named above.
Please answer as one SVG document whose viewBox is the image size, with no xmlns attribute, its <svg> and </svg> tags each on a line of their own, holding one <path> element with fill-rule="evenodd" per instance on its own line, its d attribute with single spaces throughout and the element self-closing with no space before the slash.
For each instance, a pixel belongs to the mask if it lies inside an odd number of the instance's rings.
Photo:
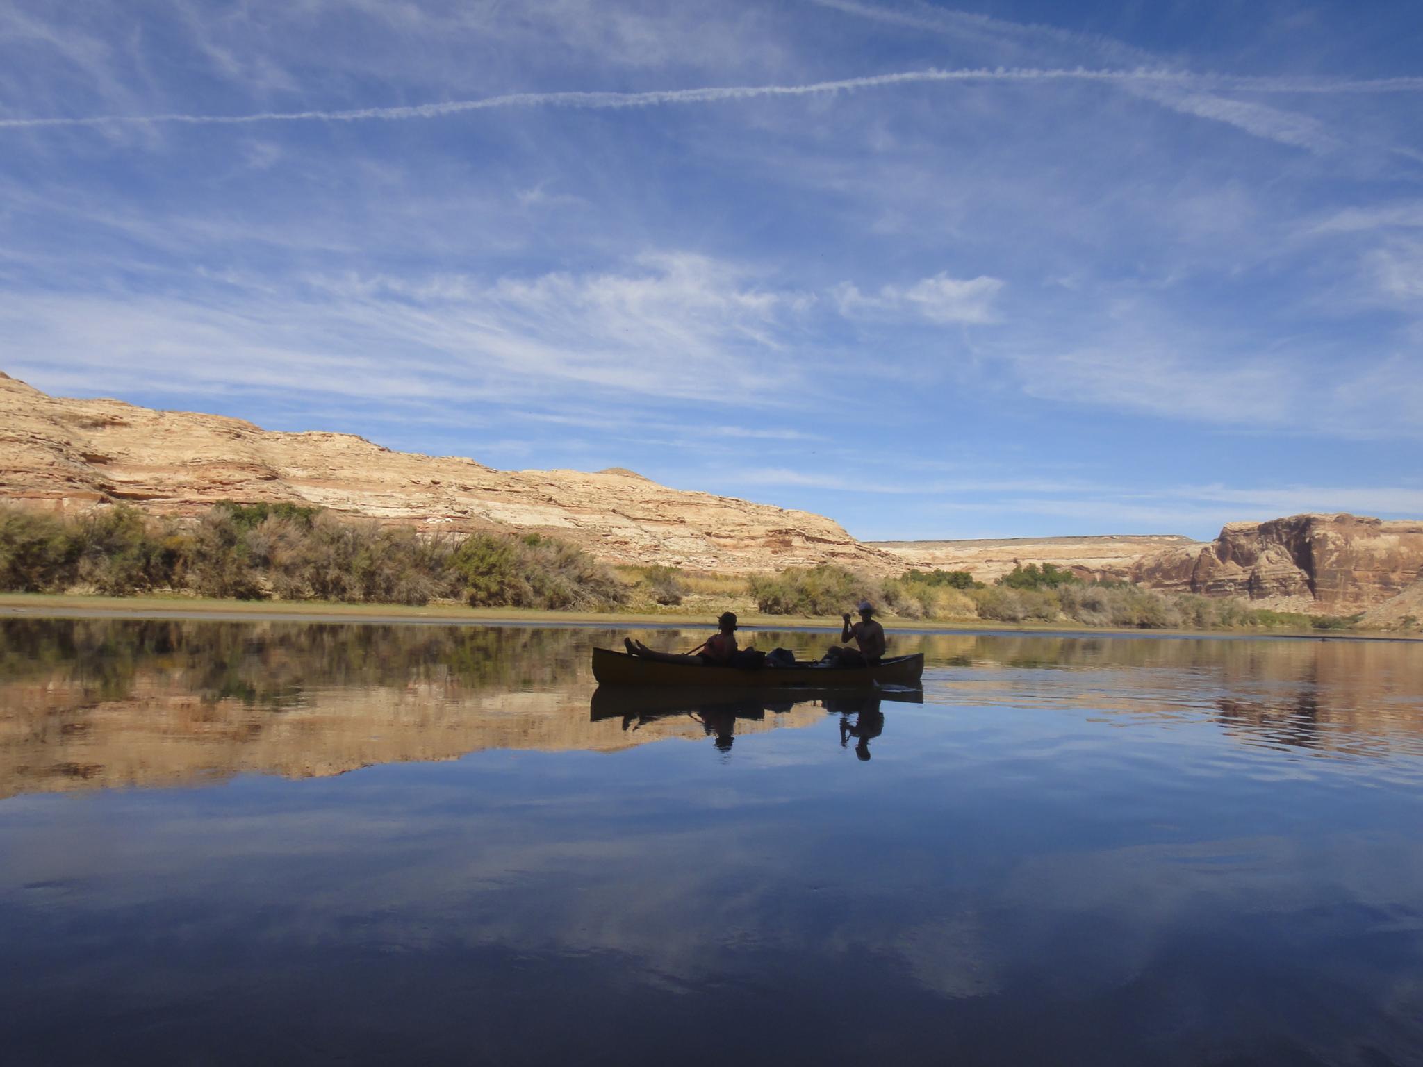
<svg viewBox="0 0 1423 1067">
<path fill-rule="evenodd" d="M 218 504 L 181 526 L 117 506 L 78 518 L 0 511 L 0 589 L 239 600 L 606 610 L 628 589 L 586 552 L 536 534 L 420 536 L 290 504 Z"/>
</svg>

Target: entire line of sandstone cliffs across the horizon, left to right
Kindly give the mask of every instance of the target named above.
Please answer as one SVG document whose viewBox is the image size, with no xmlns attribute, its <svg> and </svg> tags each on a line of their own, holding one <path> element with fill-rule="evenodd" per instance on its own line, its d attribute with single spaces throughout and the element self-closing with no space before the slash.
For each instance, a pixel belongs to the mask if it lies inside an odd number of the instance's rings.
<svg viewBox="0 0 1423 1067">
<path fill-rule="evenodd" d="M 498 471 L 393 452 L 351 434 L 277 432 L 222 415 L 50 397 L 0 371 L 0 499 L 55 511 L 120 501 L 195 516 L 221 499 L 309 504 L 423 529 L 545 532 L 612 563 L 747 573 L 831 563 L 874 575 L 1053 563 L 1261 606 L 1353 613 L 1410 596 L 1423 522 L 1295 515 L 1177 535 L 861 542 L 805 511 L 672 489 L 625 467 Z"/>
</svg>

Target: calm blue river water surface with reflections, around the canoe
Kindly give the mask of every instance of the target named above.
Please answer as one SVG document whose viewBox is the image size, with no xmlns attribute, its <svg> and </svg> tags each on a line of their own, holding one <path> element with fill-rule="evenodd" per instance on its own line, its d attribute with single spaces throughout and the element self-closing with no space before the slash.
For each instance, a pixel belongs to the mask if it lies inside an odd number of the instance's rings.
<svg viewBox="0 0 1423 1067">
<path fill-rule="evenodd" d="M 620 637 L 0 622 L 0 1058 L 1423 1064 L 1423 644 Z"/>
</svg>

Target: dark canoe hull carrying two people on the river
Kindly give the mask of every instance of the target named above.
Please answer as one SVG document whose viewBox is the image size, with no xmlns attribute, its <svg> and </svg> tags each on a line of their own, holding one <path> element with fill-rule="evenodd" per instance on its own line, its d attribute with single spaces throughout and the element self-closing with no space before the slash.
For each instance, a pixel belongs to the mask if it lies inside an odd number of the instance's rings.
<svg viewBox="0 0 1423 1067">
<path fill-rule="evenodd" d="M 918 686 L 924 653 L 894 656 L 872 667 L 712 667 L 704 663 L 666 663 L 626 652 L 593 649 L 593 677 L 601 686 L 679 686 L 683 689 L 857 689 Z"/>
</svg>

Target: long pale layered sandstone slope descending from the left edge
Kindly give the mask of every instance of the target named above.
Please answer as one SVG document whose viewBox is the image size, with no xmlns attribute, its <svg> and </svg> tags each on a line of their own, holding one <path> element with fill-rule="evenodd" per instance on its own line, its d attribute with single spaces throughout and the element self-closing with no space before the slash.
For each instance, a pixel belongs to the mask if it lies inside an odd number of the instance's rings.
<svg viewBox="0 0 1423 1067">
<path fill-rule="evenodd" d="M 901 566 L 824 516 L 670 489 L 626 469 L 498 471 L 349 434 L 64 400 L 3 373 L 0 498 L 63 511 L 132 501 L 176 516 L 223 498 L 292 501 L 425 529 L 538 531 L 613 563 L 721 572 Z"/>
</svg>

